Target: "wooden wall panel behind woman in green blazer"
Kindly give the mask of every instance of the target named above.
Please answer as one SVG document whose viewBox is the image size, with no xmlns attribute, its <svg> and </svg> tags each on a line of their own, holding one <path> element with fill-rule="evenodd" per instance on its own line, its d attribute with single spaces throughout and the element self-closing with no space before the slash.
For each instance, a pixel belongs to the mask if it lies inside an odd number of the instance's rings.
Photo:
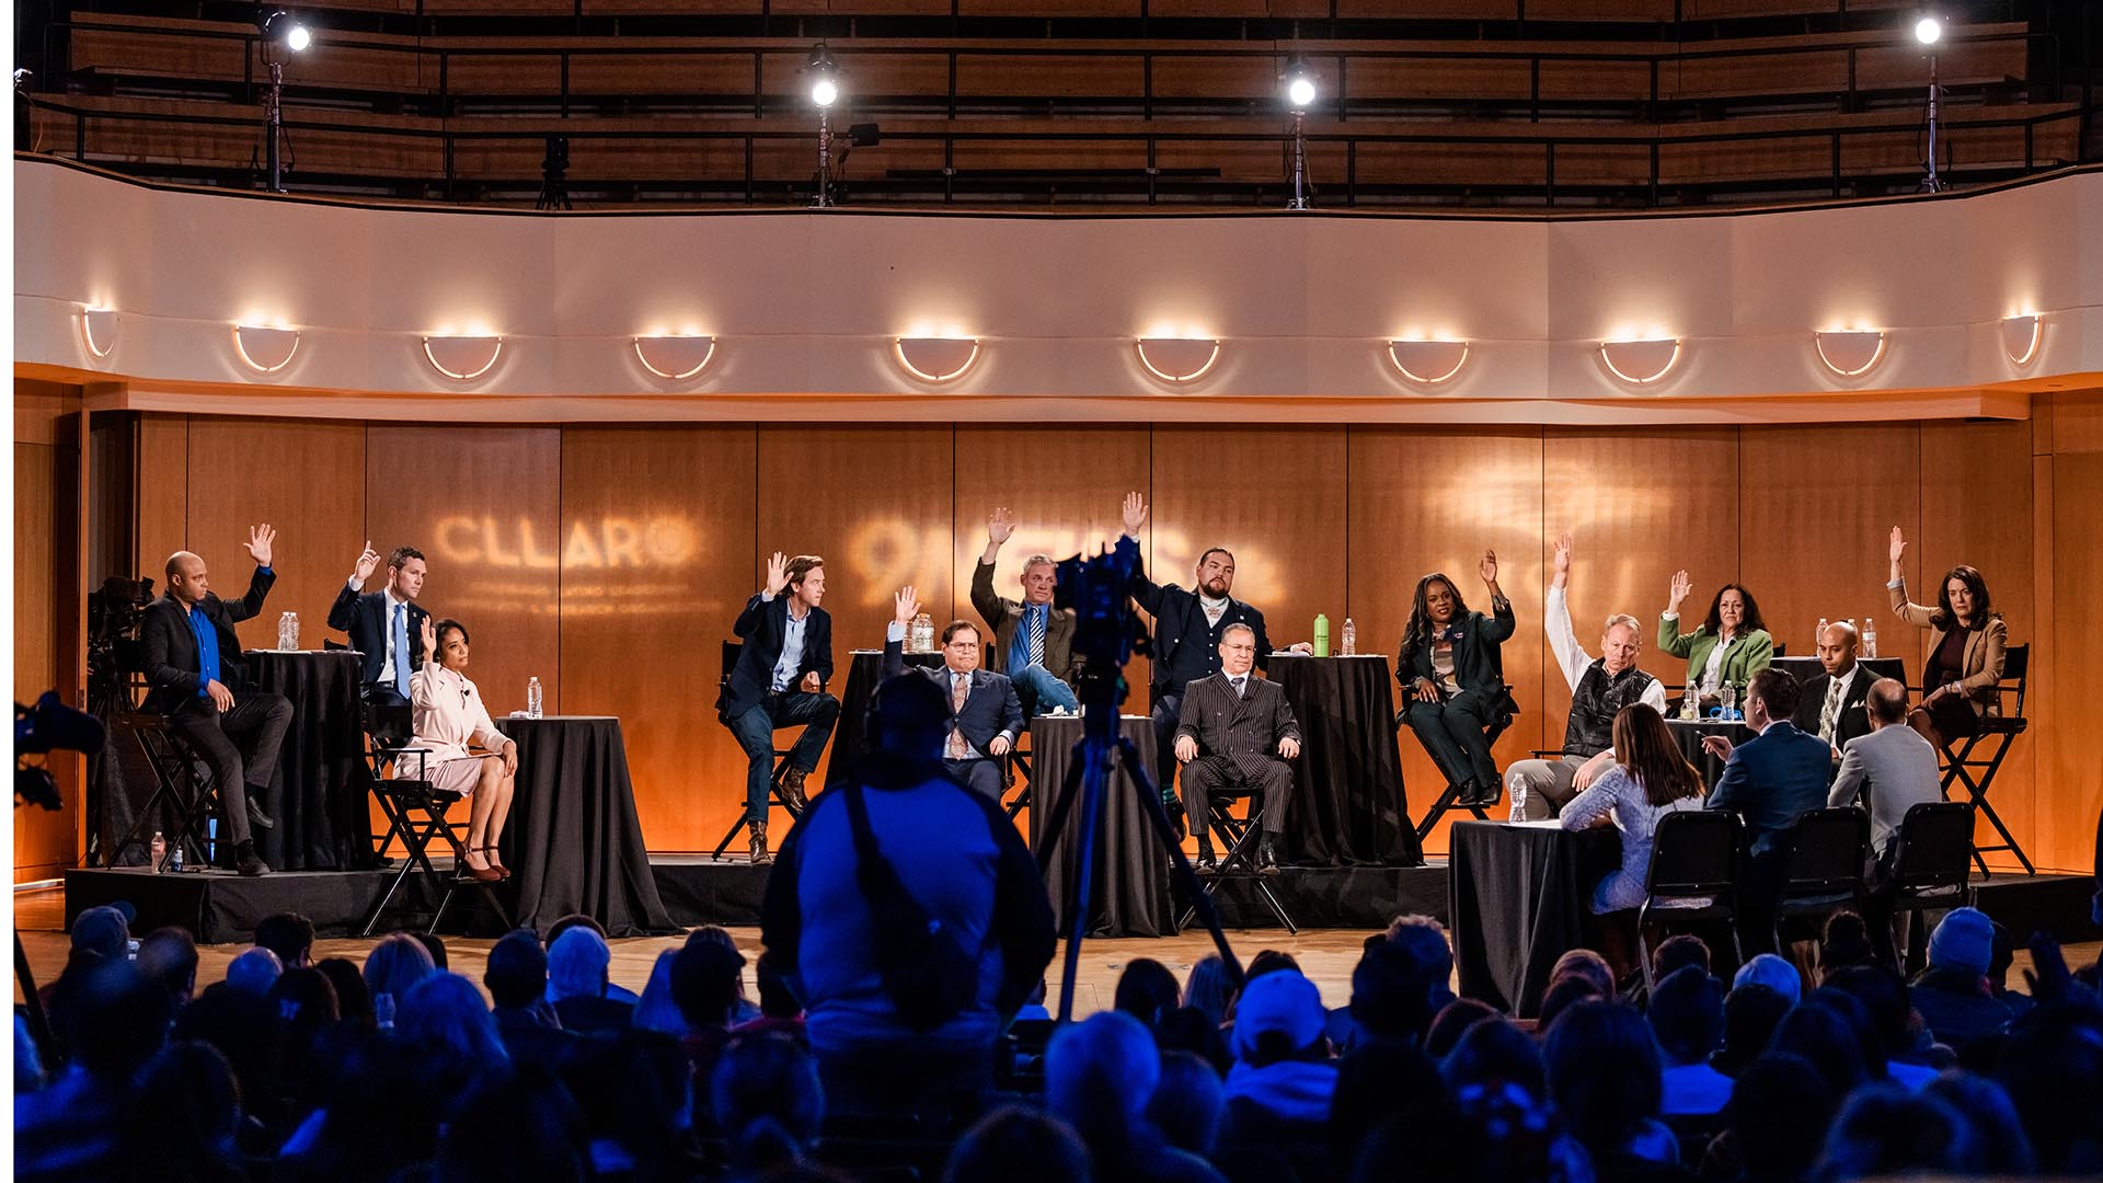
<svg viewBox="0 0 2103 1183">
<path fill-rule="evenodd" d="M 1739 446 L 1739 581 L 1792 655 L 1817 653 L 1819 617 L 1878 617 L 1878 650 L 1920 669 L 1922 638 L 1895 627 L 1886 541 L 1903 526 L 1920 587 L 1920 425 L 1745 427 Z M 1708 615 L 1729 573 L 1693 570 L 1682 613 Z M 1888 640 L 1886 640 L 1888 638 Z"/>
</svg>

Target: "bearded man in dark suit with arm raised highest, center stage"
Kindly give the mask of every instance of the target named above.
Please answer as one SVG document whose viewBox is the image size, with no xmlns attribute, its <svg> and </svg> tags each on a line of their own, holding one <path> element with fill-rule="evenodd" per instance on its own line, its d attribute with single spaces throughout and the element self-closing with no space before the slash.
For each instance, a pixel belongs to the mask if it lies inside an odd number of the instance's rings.
<svg viewBox="0 0 2103 1183">
<path fill-rule="evenodd" d="M 1146 499 L 1125 495 L 1125 537 L 1138 541 L 1146 528 Z M 1161 766 L 1169 768 L 1176 754 L 1176 724 L 1182 718 L 1184 686 L 1220 671 L 1220 642 L 1230 625 L 1247 625 L 1255 634 L 1255 667 L 1270 669 L 1270 636 L 1264 615 L 1234 600 L 1234 556 L 1211 547 L 1197 556 L 1195 589 L 1167 587 L 1131 575 L 1131 598 L 1155 619 L 1155 741 L 1161 745 Z M 1192 825 L 1203 819 L 1192 819 Z"/>
</svg>

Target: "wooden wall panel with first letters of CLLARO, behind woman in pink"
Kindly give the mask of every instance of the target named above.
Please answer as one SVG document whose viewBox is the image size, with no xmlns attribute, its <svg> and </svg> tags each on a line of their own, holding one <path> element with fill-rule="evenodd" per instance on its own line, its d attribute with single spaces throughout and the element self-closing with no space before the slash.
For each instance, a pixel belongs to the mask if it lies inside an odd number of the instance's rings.
<svg viewBox="0 0 2103 1183">
<path fill-rule="evenodd" d="M 364 444 L 364 522 L 322 564 L 322 610 L 366 539 L 383 556 L 412 545 L 429 566 L 418 602 L 467 625 L 467 676 L 490 714 L 526 709 L 528 678 L 540 678 L 547 714 L 568 709 L 557 615 L 562 429 L 374 423 Z M 355 514 L 353 503 L 345 524 Z M 385 579 L 383 564 L 366 589 Z"/>
</svg>

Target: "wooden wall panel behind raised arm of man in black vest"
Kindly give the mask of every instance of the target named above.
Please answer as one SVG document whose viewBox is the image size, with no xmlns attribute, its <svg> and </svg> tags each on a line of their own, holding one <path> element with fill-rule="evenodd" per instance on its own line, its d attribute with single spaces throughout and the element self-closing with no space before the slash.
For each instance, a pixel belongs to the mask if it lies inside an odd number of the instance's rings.
<svg viewBox="0 0 2103 1183">
<path fill-rule="evenodd" d="M 1718 581 L 1739 568 L 1737 427 L 1550 427 L 1541 505 L 1537 592 L 1548 592 L 1556 535 L 1571 530 L 1571 621 L 1586 653 L 1598 657 L 1607 617 L 1628 613 L 1642 623 L 1642 669 L 1685 684 L 1687 661 L 1657 648 L 1657 615 L 1680 566 Z M 1535 615 L 1520 627 L 1544 625 Z M 1571 695 L 1546 644 L 1539 678 L 1541 739 L 1554 747 Z"/>
</svg>

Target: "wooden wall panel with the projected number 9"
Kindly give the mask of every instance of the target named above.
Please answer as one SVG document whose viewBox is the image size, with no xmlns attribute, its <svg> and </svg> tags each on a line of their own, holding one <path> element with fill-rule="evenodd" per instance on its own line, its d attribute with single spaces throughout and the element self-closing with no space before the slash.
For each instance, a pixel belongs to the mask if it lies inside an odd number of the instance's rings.
<svg viewBox="0 0 2103 1183">
<path fill-rule="evenodd" d="M 883 646 L 898 587 L 917 587 L 936 619 L 969 610 L 951 577 L 957 549 L 953 427 L 765 423 L 757 472 L 757 549 L 742 573 L 747 596 L 765 581 L 774 552 L 824 558 L 833 695 L 848 688 L 850 650 Z M 702 636 L 728 638 L 734 619 L 732 610 L 705 625 Z"/>
</svg>

